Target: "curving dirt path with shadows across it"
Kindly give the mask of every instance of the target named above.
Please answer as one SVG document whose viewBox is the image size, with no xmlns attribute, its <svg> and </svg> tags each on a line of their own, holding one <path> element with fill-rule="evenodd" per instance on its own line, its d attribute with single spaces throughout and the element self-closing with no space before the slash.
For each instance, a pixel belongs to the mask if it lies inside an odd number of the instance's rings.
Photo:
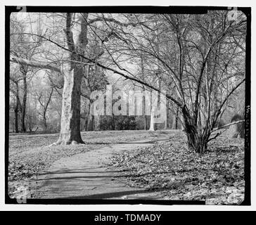
<svg viewBox="0 0 256 225">
<path fill-rule="evenodd" d="M 120 181 L 124 172 L 110 170 L 106 164 L 113 153 L 150 146 L 155 141 L 167 141 L 168 132 L 142 141 L 118 143 L 87 153 L 62 158 L 39 176 L 41 188 L 35 198 L 67 199 L 158 199 L 157 193 L 131 188 Z"/>
</svg>

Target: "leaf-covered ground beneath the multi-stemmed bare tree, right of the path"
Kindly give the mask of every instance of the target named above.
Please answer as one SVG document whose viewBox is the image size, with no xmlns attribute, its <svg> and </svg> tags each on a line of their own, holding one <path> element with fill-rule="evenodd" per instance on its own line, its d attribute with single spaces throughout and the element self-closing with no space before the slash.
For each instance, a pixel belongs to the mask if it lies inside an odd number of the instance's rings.
<svg viewBox="0 0 256 225">
<path fill-rule="evenodd" d="M 127 172 L 129 186 L 160 191 L 168 200 L 205 200 L 208 205 L 239 205 L 244 198 L 244 139 L 220 136 L 198 155 L 175 132 L 165 143 L 113 155 L 111 166 Z"/>
</svg>

